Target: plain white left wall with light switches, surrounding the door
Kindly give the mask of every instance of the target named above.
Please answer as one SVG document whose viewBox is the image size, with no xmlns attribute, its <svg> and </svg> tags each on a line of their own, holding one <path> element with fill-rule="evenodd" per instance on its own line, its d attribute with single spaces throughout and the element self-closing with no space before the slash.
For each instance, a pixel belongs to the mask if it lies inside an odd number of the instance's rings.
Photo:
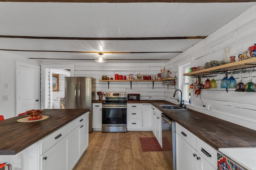
<svg viewBox="0 0 256 170">
<path fill-rule="evenodd" d="M 36 60 L 26 59 L 24 57 L 0 51 L 0 115 L 5 119 L 14 117 L 16 113 L 16 90 L 15 90 L 15 63 L 20 61 L 27 64 L 39 66 Z M 8 84 L 8 88 L 5 88 Z M 8 95 L 9 100 L 3 101 L 3 96 Z"/>
</svg>

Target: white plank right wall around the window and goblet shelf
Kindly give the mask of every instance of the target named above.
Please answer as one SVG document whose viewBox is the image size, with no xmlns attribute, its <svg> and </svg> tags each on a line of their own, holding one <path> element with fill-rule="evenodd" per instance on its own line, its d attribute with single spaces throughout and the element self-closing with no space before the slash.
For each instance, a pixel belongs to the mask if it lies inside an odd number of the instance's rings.
<svg viewBox="0 0 256 170">
<path fill-rule="evenodd" d="M 209 35 L 193 47 L 187 49 L 174 59 L 165 63 L 166 69 L 178 71 L 178 65 L 184 61 L 194 60 L 192 66 L 204 65 L 212 60 L 220 60 L 225 57 L 223 49 L 231 46 L 230 56 L 248 51 L 248 47 L 256 43 L 256 6 L 253 6 L 234 20 L 230 21 L 216 32 Z M 234 74 L 239 81 L 240 74 Z M 256 130 L 256 93 L 234 92 L 228 93 L 220 89 L 220 82 L 224 74 L 218 74 L 214 79 L 217 81 L 218 89 L 202 90 L 201 98 L 206 105 L 210 105 L 210 111 L 202 109 L 199 97 L 194 97 L 192 109 L 208 115 L 248 127 Z M 230 74 L 228 75 L 230 77 Z M 248 74 L 243 73 L 243 82 L 248 82 Z M 212 80 L 212 77 L 210 77 Z M 205 81 L 205 78 L 203 78 Z M 253 82 L 256 82 L 256 72 L 253 73 Z M 175 101 L 172 97 L 174 89 L 164 89 L 165 99 Z M 169 97 L 171 99 L 169 99 Z"/>
</svg>

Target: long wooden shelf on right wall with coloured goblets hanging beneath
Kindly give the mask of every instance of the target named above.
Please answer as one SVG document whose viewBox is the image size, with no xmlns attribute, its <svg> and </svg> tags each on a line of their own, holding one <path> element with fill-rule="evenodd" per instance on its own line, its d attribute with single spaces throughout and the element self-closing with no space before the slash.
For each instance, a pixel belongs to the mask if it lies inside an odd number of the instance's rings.
<svg viewBox="0 0 256 170">
<path fill-rule="evenodd" d="M 234 70 L 240 70 L 245 68 L 251 68 L 256 66 L 256 57 L 250 57 L 249 59 L 236 61 L 234 63 L 223 64 L 220 66 L 215 66 L 211 68 L 206 68 L 203 70 L 188 72 L 183 74 L 183 76 L 203 76 L 207 74 L 214 74 L 214 73 L 229 73 Z"/>
</svg>

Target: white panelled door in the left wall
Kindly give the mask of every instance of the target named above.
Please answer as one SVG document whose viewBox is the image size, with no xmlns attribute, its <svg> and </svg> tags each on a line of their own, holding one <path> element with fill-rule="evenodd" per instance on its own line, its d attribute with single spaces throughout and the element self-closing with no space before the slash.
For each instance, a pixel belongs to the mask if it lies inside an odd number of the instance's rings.
<svg viewBox="0 0 256 170">
<path fill-rule="evenodd" d="M 16 114 L 39 109 L 39 66 L 16 64 Z"/>
</svg>

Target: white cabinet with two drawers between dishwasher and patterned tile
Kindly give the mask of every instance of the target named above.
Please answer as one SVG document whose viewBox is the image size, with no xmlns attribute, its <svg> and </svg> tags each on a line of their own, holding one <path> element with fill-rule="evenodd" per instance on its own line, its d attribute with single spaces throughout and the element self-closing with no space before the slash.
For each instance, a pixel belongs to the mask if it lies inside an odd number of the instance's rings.
<svg viewBox="0 0 256 170">
<path fill-rule="evenodd" d="M 177 170 L 216 170 L 217 151 L 176 123 L 176 161 Z"/>
</svg>

